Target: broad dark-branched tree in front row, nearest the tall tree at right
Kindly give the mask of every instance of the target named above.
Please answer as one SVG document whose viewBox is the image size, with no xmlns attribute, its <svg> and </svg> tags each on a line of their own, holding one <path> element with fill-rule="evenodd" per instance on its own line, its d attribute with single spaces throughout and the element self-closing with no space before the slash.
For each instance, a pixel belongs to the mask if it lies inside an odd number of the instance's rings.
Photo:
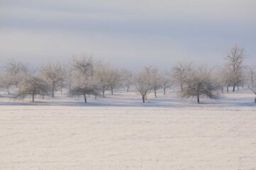
<svg viewBox="0 0 256 170">
<path fill-rule="evenodd" d="M 193 76 L 192 76 L 193 75 Z M 193 71 L 191 77 L 187 77 L 186 86 L 181 91 L 181 97 L 196 97 L 200 103 L 200 97 L 218 98 L 220 86 L 216 83 L 212 71 L 206 67 L 198 68 Z"/>
</svg>

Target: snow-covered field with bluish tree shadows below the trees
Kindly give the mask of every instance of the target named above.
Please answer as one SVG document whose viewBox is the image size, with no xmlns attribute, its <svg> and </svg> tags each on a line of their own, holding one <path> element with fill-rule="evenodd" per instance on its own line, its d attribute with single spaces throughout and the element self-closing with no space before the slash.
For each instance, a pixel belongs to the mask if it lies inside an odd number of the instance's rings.
<svg viewBox="0 0 256 170">
<path fill-rule="evenodd" d="M 175 94 L 0 98 L 0 169 L 256 169 L 256 105 L 247 91 L 218 101 Z"/>
</svg>

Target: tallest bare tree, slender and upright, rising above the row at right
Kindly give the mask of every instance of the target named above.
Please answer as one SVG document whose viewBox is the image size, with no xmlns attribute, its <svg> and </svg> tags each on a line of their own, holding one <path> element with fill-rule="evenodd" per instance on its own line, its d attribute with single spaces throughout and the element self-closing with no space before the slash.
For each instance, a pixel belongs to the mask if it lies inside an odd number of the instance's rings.
<svg viewBox="0 0 256 170">
<path fill-rule="evenodd" d="M 230 73 L 233 91 L 235 91 L 235 86 L 239 86 L 239 82 L 243 79 L 242 69 L 244 67 L 245 49 L 239 45 L 233 45 L 225 60 L 227 61 L 226 65 Z"/>
</svg>

